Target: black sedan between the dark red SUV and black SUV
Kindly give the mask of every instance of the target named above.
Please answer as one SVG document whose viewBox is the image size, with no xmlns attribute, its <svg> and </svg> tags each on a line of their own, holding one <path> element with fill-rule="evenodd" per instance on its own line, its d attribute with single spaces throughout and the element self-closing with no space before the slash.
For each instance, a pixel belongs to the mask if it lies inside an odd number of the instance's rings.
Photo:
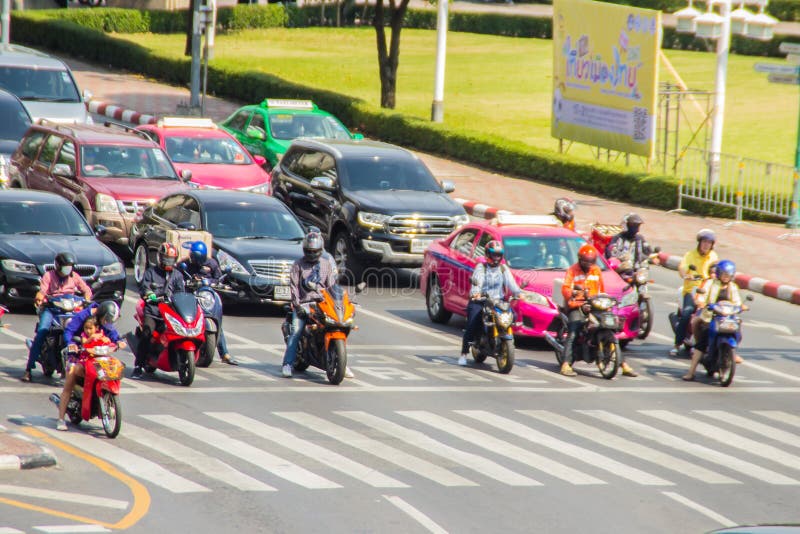
<svg viewBox="0 0 800 534">
<path fill-rule="evenodd" d="M 290 300 L 289 271 L 303 255 L 303 227 L 282 202 L 239 191 L 194 190 L 168 195 L 150 206 L 130 235 L 133 270 L 141 280 L 156 261 L 167 230 L 205 230 L 213 236 L 213 255 L 230 268 L 228 284 L 237 301 Z"/>
</svg>

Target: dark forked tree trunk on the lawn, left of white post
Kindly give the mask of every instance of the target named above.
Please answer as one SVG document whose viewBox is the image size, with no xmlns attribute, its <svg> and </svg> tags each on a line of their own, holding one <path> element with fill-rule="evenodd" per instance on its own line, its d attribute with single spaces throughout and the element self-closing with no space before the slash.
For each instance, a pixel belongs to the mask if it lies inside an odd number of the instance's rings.
<svg viewBox="0 0 800 534">
<path fill-rule="evenodd" d="M 397 65 L 400 59 L 400 30 L 406 15 L 409 0 L 389 1 L 389 27 L 392 30 L 389 49 L 386 48 L 386 23 L 384 0 L 375 2 L 375 37 L 378 41 L 378 71 L 381 75 L 381 107 L 394 109 L 397 89 Z"/>
</svg>

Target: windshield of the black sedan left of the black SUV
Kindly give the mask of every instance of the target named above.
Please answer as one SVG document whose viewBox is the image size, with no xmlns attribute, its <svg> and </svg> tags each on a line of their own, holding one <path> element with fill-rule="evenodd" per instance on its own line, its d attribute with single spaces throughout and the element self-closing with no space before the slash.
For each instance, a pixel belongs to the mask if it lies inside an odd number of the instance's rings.
<svg viewBox="0 0 800 534">
<path fill-rule="evenodd" d="M 206 229 L 217 238 L 303 238 L 303 227 L 294 215 L 280 207 L 239 202 L 234 206 L 212 206 L 206 210 Z"/>
</svg>

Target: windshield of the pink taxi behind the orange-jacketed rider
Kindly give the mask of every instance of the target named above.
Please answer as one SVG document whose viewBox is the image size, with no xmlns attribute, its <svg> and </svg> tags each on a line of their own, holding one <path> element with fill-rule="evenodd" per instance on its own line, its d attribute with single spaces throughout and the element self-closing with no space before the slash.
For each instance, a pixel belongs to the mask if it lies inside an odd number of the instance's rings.
<svg viewBox="0 0 800 534">
<path fill-rule="evenodd" d="M 563 271 L 578 262 L 580 237 L 509 236 L 503 238 L 506 263 L 514 269 Z M 606 270 L 598 258 L 597 265 Z"/>
</svg>

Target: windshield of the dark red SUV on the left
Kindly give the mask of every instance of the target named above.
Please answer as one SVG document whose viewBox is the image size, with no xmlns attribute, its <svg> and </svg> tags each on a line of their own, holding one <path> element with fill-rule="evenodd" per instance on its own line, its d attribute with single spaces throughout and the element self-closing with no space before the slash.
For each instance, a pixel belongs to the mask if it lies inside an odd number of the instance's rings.
<svg viewBox="0 0 800 534">
<path fill-rule="evenodd" d="M 156 147 L 84 145 L 83 176 L 178 180 L 164 151 Z"/>
</svg>

